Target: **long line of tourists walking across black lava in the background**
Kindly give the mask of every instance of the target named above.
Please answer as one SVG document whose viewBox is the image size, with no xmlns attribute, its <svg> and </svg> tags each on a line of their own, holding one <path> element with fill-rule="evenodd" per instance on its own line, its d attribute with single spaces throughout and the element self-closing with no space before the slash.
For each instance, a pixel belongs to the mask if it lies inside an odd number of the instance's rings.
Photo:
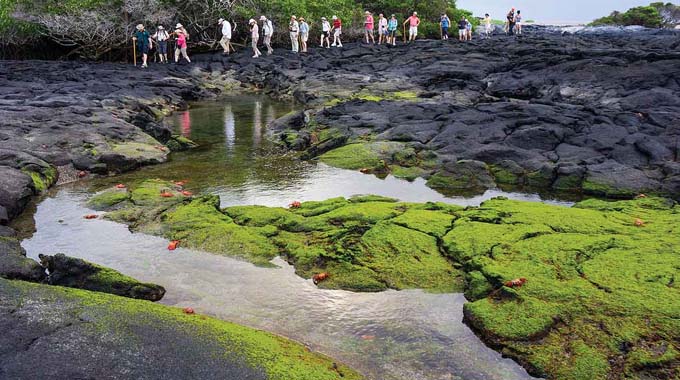
<svg viewBox="0 0 680 380">
<path fill-rule="evenodd" d="M 262 23 L 258 24 L 258 21 L 251 18 L 248 21 L 248 27 L 251 37 L 251 46 L 253 49 L 253 58 L 258 58 L 262 55 L 262 52 L 258 48 L 260 42 L 260 35 L 263 36 L 264 46 L 267 48 L 267 55 L 273 53 L 271 46 L 272 36 L 274 35 L 274 25 L 270 19 L 266 16 L 260 16 L 259 21 Z M 322 48 L 331 47 L 342 47 L 342 20 L 337 16 L 333 16 L 329 22 L 326 17 L 321 17 L 321 31 L 319 46 Z M 235 25 L 232 28 L 232 24 L 220 18 L 217 21 L 220 26 L 220 31 L 222 37 L 219 41 L 222 46 L 223 53 L 225 55 L 230 54 L 233 50 L 231 44 L 231 38 Z M 406 39 L 406 27 L 408 26 L 408 41 L 415 41 L 418 36 L 418 27 L 420 26 L 420 18 L 418 18 L 418 12 L 413 12 L 404 22 L 404 39 Z M 484 17 L 484 35 L 490 37 L 493 26 L 492 20 L 487 13 Z M 449 39 L 449 29 L 451 28 L 451 19 L 442 13 L 439 19 L 439 26 L 441 30 L 441 38 L 443 40 Z M 364 38 L 367 44 L 376 43 L 375 40 L 375 26 L 376 22 L 373 18 L 373 14 L 370 11 L 365 12 L 364 18 Z M 381 44 L 397 44 L 397 30 L 399 27 L 399 22 L 397 17 L 393 14 L 387 19 L 384 14 L 380 13 L 377 20 L 378 29 L 378 45 Z M 182 24 L 177 24 L 175 30 L 172 33 L 168 33 L 162 25 L 156 28 L 156 32 L 150 35 L 144 28 L 144 25 L 137 25 L 136 32 L 132 37 L 135 41 L 135 47 L 139 50 L 142 55 L 142 68 L 146 68 L 148 65 L 148 55 L 149 51 L 153 49 L 154 44 L 157 47 L 158 59 L 161 63 L 168 63 L 168 42 L 171 38 L 175 38 L 176 48 L 175 48 L 175 63 L 179 62 L 180 56 L 182 56 L 187 62 L 191 62 L 189 55 L 187 54 L 187 40 L 189 38 L 189 33 L 182 26 Z M 307 23 L 304 17 L 291 16 L 290 22 L 288 23 L 288 32 L 291 41 L 291 50 L 295 53 L 307 53 L 309 35 L 311 32 L 311 25 Z M 262 33 L 260 32 L 262 30 Z M 509 35 L 522 34 L 522 15 L 518 10 L 515 12 L 515 8 L 512 8 L 507 15 L 507 21 L 505 23 L 505 31 Z M 333 43 L 331 44 L 331 35 L 333 36 Z M 461 17 L 458 21 L 458 39 L 460 41 L 471 41 L 472 40 L 472 23 L 465 17 Z M 136 57 L 135 57 L 136 59 Z"/>
</svg>

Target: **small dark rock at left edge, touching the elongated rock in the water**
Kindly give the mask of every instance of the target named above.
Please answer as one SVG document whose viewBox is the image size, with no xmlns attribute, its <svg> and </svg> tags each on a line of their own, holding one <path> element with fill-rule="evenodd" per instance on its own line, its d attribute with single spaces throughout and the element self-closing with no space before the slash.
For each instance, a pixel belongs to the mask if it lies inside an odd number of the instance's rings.
<svg viewBox="0 0 680 380">
<path fill-rule="evenodd" d="M 46 275 L 38 262 L 26 257 L 18 240 L 0 237 L 0 277 L 40 282 Z"/>
</svg>

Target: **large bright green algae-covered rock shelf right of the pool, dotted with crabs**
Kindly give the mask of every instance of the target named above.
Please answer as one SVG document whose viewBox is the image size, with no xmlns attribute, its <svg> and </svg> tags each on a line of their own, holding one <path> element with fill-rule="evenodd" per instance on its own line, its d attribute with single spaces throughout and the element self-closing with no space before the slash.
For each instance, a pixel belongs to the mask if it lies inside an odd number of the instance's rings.
<svg viewBox="0 0 680 380">
<path fill-rule="evenodd" d="M 468 323 L 541 376 L 680 376 L 672 201 L 497 198 L 463 209 L 368 196 L 220 210 L 205 196 L 153 214 L 146 223 L 170 239 L 255 263 L 281 255 L 303 277 L 327 272 L 326 288 L 456 291 L 464 281 Z"/>
</svg>

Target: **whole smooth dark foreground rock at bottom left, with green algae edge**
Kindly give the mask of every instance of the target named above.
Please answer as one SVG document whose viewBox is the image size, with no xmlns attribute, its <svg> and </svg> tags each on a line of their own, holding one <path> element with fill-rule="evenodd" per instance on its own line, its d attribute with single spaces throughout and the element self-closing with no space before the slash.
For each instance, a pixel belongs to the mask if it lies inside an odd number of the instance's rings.
<svg viewBox="0 0 680 380">
<path fill-rule="evenodd" d="M 0 353 L 11 378 L 25 368 L 31 378 L 55 371 L 87 378 L 362 378 L 288 339 L 143 300 L 4 279 L 0 300 L 0 318 L 11 331 L 3 342 L 43 342 L 30 352 Z"/>
</svg>

